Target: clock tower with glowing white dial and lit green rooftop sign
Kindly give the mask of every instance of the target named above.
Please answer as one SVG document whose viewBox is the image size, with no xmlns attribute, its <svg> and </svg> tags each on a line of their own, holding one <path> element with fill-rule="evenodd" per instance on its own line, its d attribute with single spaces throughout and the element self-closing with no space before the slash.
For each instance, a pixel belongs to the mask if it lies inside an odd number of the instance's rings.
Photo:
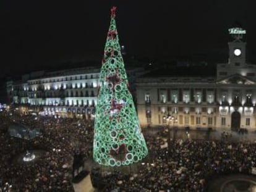
<svg viewBox="0 0 256 192">
<path fill-rule="evenodd" d="M 229 62 L 228 64 L 233 67 L 245 65 L 245 45 L 242 40 L 246 31 L 241 27 L 229 28 L 229 34 L 233 41 L 228 43 L 229 46 Z"/>
</svg>

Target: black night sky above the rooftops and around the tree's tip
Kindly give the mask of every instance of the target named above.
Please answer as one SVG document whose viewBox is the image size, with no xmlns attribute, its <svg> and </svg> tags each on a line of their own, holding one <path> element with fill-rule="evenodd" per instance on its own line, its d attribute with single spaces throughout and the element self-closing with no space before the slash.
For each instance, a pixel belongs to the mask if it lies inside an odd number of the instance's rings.
<svg viewBox="0 0 256 192">
<path fill-rule="evenodd" d="M 7 1 L 1 5 L 2 77 L 101 61 L 117 6 L 117 30 L 129 56 L 150 59 L 203 55 L 228 60 L 228 28 L 247 30 L 249 59 L 256 56 L 254 1 Z"/>
</svg>

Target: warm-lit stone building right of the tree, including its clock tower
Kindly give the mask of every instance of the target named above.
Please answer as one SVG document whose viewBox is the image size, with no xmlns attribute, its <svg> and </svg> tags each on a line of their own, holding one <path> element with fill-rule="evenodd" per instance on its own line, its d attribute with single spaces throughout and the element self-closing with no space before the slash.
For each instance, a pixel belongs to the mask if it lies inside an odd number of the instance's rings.
<svg viewBox="0 0 256 192">
<path fill-rule="evenodd" d="M 233 37 L 229 59 L 216 65 L 216 75 L 137 80 L 137 110 L 143 126 L 256 130 L 256 66 L 246 62 L 245 30 L 232 28 L 229 33 Z"/>
</svg>

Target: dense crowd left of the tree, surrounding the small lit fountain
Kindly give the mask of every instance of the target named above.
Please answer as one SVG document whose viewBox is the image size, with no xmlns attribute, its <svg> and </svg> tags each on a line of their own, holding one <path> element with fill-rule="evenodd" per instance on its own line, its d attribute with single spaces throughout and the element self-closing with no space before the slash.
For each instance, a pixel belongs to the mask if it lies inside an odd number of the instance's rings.
<svg viewBox="0 0 256 192">
<path fill-rule="evenodd" d="M 41 134 L 30 140 L 11 137 L 7 129 L 13 122 L 39 127 Z M 12 191 L 22 192 L 74 191 L 74 154 L 92 156 L 91 121 L 2 113 L 0 123 L 0 186 L 9 183 Z M 46 152 L 32 162 L 15 161 L 19 154 L 35 149 Z"/>
</svg>

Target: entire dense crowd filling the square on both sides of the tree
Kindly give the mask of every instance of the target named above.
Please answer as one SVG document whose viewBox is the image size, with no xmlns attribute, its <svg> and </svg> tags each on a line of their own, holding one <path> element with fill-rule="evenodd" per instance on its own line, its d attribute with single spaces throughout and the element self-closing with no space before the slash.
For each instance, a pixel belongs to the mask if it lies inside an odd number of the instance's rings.
<svg viewBox="0 0 256 192">
<path fill-rule="evenodd" d="M 40 136 L 23 140 L 9 136 L 12 122 L 40 128 Z M 0 185 L 10 183 L 15 191 L 74 191 L 74 155 L 92 160 L 93 122 L 32 115 L 0 115 Z M 103 191 L 205 191 L 215 175 L 250 173 L 256 163 L 256 143 L 232 140 L 176 140 L 170 148 L 159 134 L 145 134 L 148 157 L 119 169 L 101 172 Z M 12 162 L 33 149 L 45 155 L 33 162 Z"/>
</svg>

